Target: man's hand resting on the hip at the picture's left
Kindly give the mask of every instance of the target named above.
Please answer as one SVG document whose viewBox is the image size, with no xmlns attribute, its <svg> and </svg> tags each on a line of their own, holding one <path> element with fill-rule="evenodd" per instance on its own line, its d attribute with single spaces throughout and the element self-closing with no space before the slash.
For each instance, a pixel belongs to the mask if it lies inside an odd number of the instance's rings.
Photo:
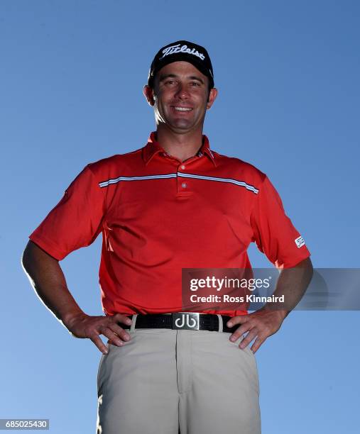
<svg viewBox="0 0 360 434">
<path fill-rule="evenodd" d="M 78 313 L 72 316 L 64 325 L 75 338 L 89 338 L 103 354 L 107 354 L 107 347 L 99 335 L 109 339 L 109 343 L 121 347 L 124 342 L 130 340 L 130 335 L 119 323 L 131 325 L 131 319 L 121 313 L 114 316 L 89 316 L 86 313 Z"/>
</svg>

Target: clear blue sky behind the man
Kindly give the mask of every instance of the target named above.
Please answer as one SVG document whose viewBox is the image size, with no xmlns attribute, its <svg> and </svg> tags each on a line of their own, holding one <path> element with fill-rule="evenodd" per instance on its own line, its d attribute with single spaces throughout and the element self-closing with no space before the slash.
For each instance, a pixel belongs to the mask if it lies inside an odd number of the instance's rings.
<svg viewBox="0 0 360 434">
<path fill-rule="evenodd" d="M 100 352 L 40 303 L 21 252 L 87 162 L 146 142 L 142 87 L 166 43 L 209 50 L 210 144 L 268 174 L 315 267 L 360 267 L 359 18 L 347 0 L 1 1 L 0 418 L 94 433 Z M 95 315 L 99 247 L 62 262 Z M 359 321 L 358 311 L 295 311 L 258 350 L 263 434 L 359 432 Z"/>
</svg>

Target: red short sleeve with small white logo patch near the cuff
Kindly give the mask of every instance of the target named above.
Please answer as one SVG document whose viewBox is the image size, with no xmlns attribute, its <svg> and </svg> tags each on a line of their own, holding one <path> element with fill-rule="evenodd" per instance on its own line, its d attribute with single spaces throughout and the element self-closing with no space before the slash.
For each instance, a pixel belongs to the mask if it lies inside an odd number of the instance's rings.
<svg viewBox="0 0 360 434">
<path fill-rule="evenodd" d="M 268 177 L 263 179 L 251 214 L 258 250 L 278 268 L 290 268 L 310 256 L 305 241 L 286 216 L 283 203 Z"/>
</svg>

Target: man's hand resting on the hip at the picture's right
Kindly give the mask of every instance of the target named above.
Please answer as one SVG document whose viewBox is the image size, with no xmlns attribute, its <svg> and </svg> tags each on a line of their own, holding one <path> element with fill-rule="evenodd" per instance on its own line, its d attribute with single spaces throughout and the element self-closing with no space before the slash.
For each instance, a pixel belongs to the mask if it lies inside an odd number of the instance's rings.
<svg viewBox="0 0 360 434">
<path fill-rule="evenodd" d="M 248 332 L 246 337 L 241 340 L 239 347 L 241 350 L 244 350 L 251 343 L 251 340 L 256 338 L 251 346 L 251 351 L 255 353 L 269 336 L 279 330 L 285 316 L 283 311 L 268 311 L 263 309 L 249 313 L 249 315 L 234 316 L 234 318 L 231 318 L 227 322 L 227 326 L 232 327 L 236 324 L 241 324 L 241 326 L 230 336 L 230 340 L 235 342 L 241 335 Z"/>
</svg>

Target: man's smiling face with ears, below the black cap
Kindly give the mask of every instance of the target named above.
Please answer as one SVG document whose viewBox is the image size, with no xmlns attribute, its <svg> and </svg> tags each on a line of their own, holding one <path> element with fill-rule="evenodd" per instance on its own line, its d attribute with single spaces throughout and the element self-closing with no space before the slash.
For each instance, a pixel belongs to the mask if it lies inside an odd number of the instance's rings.
<svg viewBox="0 0 360 434">
<path fill-rule="evenodd" d="M 161 68 L 154 89 L 144 88 L 154 106 L 157 125 L 165 124 L 176 133 L 202 129 L 205 112 L 217 96 L 207 77 L 188 62 L 173 62 Z"/>
</svg>

